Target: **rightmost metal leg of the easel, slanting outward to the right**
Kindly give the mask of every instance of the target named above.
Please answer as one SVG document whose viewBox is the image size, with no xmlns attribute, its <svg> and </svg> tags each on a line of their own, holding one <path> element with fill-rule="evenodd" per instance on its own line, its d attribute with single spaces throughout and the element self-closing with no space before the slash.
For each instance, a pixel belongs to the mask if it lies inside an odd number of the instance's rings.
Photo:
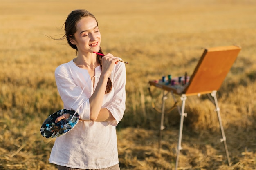
<svg viewBox="0 0 256 170">
<path fill-rule="evenodd" d="M 220 131 L 221 131 L 221 134 L 222 134 L 222 139 L 220 139 L 220 141 L 223 142 L 223 144 L 224 144 L 225 152 L 226 152 L 226 155 L 227 155 L 227 162 L 228 162 L 228 165 L 230 166 L 229 151 L 227 149 L 226 136 L 225 136 L 225 133 L 224 133 L 224 128 L 223 128 L 221 117 L 220 117 L 220 108 L 218 106 L 216 92 L 217 91 L 213 91 L 211 93 L 211 96 L 214 98 L 214 104 L 216 106 L 215 111 L 217 112 L 219 123 L 220 123 Z"/>
</svg>

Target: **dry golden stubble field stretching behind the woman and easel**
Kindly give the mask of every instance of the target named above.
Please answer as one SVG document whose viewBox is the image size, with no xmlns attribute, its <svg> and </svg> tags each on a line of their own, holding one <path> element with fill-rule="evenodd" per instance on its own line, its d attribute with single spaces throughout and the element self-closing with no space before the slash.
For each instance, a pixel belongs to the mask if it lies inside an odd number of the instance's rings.
<svg viewBox="0 0 256 170">
<path fill-rule="evenodd" d="M 220 143 L 217 115 L 202 95 L 188 97 L 179 170 L 256 170 L 255 0 L 1 0 L 0 170 L 56 170 L 54 139 L 43 121 L 63 107 L 55 68 L 76 53 L 60 38 L 73 9 L 99 21 L 101 47 L 129 62 L 124 119 L 117 126 L 121 170 L 174 170 L 177 109 L 166 114 L 158 152 L 160 114 L 148 81 L 188 75 L 204 48 L 239 45 L 237 60 L 217 93 L 231 166 Z M 161 107 L 161 91 L 151 89 Z M 168 109 L 173 101 L 166 100 Z"/>
</svg>

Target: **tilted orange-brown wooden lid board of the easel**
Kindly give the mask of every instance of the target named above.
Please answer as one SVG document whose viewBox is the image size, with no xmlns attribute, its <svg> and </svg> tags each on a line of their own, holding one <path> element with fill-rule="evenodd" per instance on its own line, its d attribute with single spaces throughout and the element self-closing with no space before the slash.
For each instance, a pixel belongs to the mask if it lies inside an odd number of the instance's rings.
<svg viewBox="0 0 256 170">
<path fill-rule="evenodd" d="M 205 49 L 183 92 L 196 95 L 218 91 L 240 50 L 239 46 Z"/>
</svg>

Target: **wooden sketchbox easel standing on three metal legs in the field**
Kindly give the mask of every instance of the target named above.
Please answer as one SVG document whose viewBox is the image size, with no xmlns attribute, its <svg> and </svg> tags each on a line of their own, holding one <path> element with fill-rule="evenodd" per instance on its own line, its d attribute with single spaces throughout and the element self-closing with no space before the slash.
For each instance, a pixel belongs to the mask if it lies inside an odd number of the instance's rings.
<svg viewBox="0 0 256 170">
<path fill-rule="evenodd" d="M 161 110 L 161 124 L 160 124 L 160 134 L 159 134 L 159 150 L 161 147 L 161 138 L 162 138 L 162 130 L 164 129 L 164 113 L 165 113 L 165 100 L 167 99 L 167 94 L 171 92 L 172 97 L 175 101 L 173 107 L 177 106 L 178 111 L 180 113 L 180 129 L 179 129 L 179 139 L 177 145 L 177 157 L 175 170 L 177 170 L 179 163 L 179 155 L 180 150 L 182 150 L 181 141 L 182 141 L 182 130 L 183 130 L 183 121 L 184 117 L 187 116 L 185 113 L 185 103 L 188 96 L 192 95 L 202 95 L 207 94 L 215 105 L 216 113 L 218 115 L 218 120 L 220 124 L 220 132 L 222 135 L 221 142 L 224 144 L 227 162 L 230 166 L 229 152 L 227 149 L 226 136 L 224 133 L 224 128 L 222 125 L 221 117 L 220 117 L 220 108 L 218 106 L 218 101 L 216 97 L 216 93 L 220 88 L 222 82 L 224 81 L 227 73 L 229 72 L 231 66 L 233 65 L 238 53 L 241 48 L 239 46 L 221 46 L 205 49 L 202 57 L 200 58 L 198 65 L 196 66 L 193 74 L 191 75 L 189 82 L 185 85 L 176 84 L 171 85 L 166 82 L 161 81 L 149 81 L 150 86 L 155 86 L 157 88 L 161 88 L 163 90 L 162 97 L 162 110 Z M 186 78 L 185 78 L 186 79 Z M 150 90 L 150 88 L 149 88 Z M 167 91 L 167 93 L 165 93 Z M 182 101 L 181 108 L 177 105 L 177 100 L 175 99 L 175 95 L 180 96 L 180 100 Z M 151 92 L 150 92 L 151 95 Z M 152 95 L 151 95 L 152 96 Z M 172 108 L 173 108 L 172 107 Z"/>
</svg>

